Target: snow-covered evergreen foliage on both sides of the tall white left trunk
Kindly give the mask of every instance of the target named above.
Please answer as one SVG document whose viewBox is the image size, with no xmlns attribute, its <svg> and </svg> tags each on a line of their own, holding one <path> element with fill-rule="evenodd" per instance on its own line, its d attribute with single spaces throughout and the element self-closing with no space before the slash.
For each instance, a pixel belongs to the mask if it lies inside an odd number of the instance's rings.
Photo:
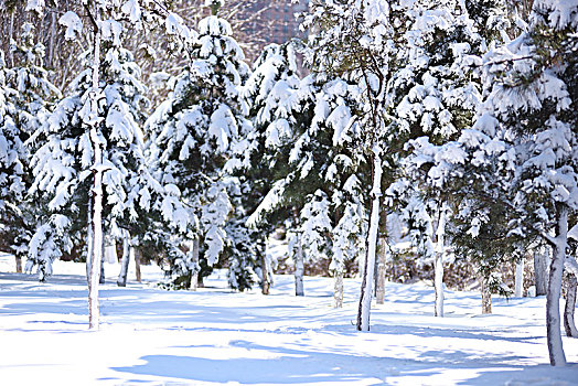
<svg viewBox="0 0 578 386">
<path fill-rule="evenodd" d="M 108 235 L 124 238 L 127 236 L 121 229 L 131 229 L 139 215 L 149 211 L 151 192 L 159 187 L 147 170 L 143 136 L 138 126 L 147 104 L 146 89 L 139 81 L 140 68 L 132 54 L 119 44 L 120 36 L 110 35 L 103 46 L 98 129 L 103 141 L 104 225 Z M 38 143 L 32 158 L 31 192 L 50 200 L 29 254 L 30 264 L 39 265 L 41 278 L 50 275 L 54 258 L 69 250 L 72 237 L 84 239 L 88 247 L 92 243 L 85 232 L 90 222 L 89 175 L 94 152 L 88 127 L 82 120 L 92 89 L 92 71 L 86 68 L 76 77 L 68 96 L 57 103 L 31 138 L 31 142 Z M 51 228 L 58 232 L 53 235 Z M 87 259 L 88 270 L 89 262 Z"/>
</svg>

